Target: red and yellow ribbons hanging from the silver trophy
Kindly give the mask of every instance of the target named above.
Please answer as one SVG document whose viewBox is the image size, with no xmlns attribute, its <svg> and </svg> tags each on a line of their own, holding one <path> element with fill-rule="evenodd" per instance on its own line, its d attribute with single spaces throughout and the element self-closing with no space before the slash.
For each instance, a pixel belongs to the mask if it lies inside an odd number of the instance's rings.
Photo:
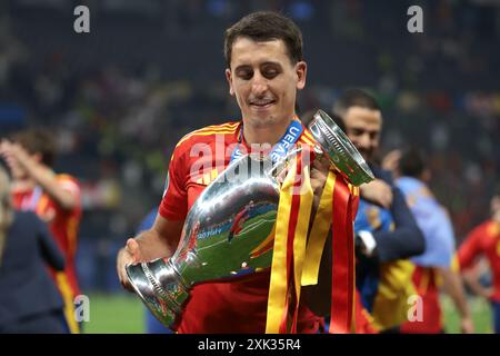
<svg viewBox="0 0 500 356">
<path fill-rule="evenodd" d="M 297 175 L 302 179 L 298 180 Z M 301 194 L 298 194 L 298 189 L 301 189 Z M 302 166 L 301 156 L 297 157 L 280 191 L 266 333 L 297 332 L 301 287 L 318 284 L 321 256 L 330 226 L 333 261 L 329 332 L 352 330 L 353 217 L 358 208 L 358 188 L 330 171 L 308 241 L 313 191 L 309 166 Z"/>
</svg>

